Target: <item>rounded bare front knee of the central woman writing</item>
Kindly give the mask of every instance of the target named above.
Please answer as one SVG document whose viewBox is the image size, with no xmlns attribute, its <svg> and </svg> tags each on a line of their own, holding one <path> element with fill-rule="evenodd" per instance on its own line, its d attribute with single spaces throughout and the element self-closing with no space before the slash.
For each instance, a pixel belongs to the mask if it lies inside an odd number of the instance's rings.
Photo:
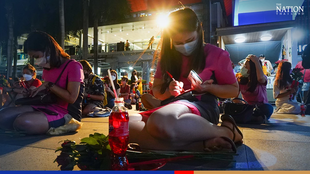
<svg viewBox="0 0 310 174">
<path fill-rule="evenodd" d="M 153 113 L 156 114 L 156 111 Z M 175 139 L 175 126 L 174 122 L 176 118 L 167 113 L 167 115 L 156 115 L 156 117 L 150 116 L 147 121 L 147 131 L 154 137 L 165 140 Z"/>
</svg>

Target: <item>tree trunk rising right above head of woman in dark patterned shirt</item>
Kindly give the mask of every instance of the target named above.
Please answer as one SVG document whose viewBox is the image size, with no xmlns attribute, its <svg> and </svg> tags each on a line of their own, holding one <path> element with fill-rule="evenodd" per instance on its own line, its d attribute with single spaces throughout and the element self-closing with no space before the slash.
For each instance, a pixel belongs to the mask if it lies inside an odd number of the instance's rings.
<svg viewBox="0 0 310 174">
<path fill-rule="evenodd" d="M 83 60 L 87 61 L 88 55 L 88 9 L 89 0 L 84 0 L 83 2 Z"/>
</svg>

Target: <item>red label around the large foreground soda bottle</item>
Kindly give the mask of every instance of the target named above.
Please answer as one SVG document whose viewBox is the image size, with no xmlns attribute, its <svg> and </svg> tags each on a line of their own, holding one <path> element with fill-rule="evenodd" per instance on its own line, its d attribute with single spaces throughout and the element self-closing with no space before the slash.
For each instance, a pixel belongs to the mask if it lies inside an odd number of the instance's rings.
<svg viewBox="0 0 310 174">
<path fill-rule="evenodd" d="M 122 137 L 129 135 L 129 123 L 125 121 L 113 121 L 109 123 L 109 136 Z"/>
</svg>

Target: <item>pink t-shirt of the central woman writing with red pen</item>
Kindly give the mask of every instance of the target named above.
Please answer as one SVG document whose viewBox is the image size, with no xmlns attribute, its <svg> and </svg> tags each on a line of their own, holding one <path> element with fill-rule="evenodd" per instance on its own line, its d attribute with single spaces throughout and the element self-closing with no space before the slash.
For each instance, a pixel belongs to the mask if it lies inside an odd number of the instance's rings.
<svg viewBox="0 0 310 174">
<path fill-rule="evenodd" d="M 210 80 L 212 72 L 214 72 L 218 85 L 231 85 L 237 81 L 236 75 L 232 69 L 232 62 L 227 51 L 211 44 L 206 44 L 204 51 L 205 55 L 207 55 L 206 66 L 205 69 L 198 74 L 202 81 Z M 187 73 L 190 71 L 188 70 L 188 65 L 191 59 L 192 57 L 182 56 L 183 62 L 181 75 L 179 79 L 176 79 L 177 81 L 184 83 L 184 90 L 191 89 L 191 83 L 187 79 Z M 154 76 L 154 78 L 157 79 L 162 78 L 162 71 L 159 63 L 160 62 L 157 63 L 157 69 Z M 186 76 L 186 78 L 184 76 Z"/>
</svg>

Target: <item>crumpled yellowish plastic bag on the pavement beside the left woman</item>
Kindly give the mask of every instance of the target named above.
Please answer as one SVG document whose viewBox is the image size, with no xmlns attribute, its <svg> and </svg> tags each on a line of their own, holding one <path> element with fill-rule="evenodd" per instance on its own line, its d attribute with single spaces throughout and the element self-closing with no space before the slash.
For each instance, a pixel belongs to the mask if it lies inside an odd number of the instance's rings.
<svg viewBox="0 0 310 174">
<path fill-rule="evenodd" d="M 64 119 L 66 120 L 66 122 L 63 126 L 60 126 L 58 128 L 51 127 L 47 131 L 46 134 L 47 135 L 59 135 L 59 134 L 65 134 L 68 132 L 78 131 L 82 128 L 83 123 L 75 120 L 74 118 L 72 118 L 71 115 L 69 114 L 64 115 Z"/>
</svg>

